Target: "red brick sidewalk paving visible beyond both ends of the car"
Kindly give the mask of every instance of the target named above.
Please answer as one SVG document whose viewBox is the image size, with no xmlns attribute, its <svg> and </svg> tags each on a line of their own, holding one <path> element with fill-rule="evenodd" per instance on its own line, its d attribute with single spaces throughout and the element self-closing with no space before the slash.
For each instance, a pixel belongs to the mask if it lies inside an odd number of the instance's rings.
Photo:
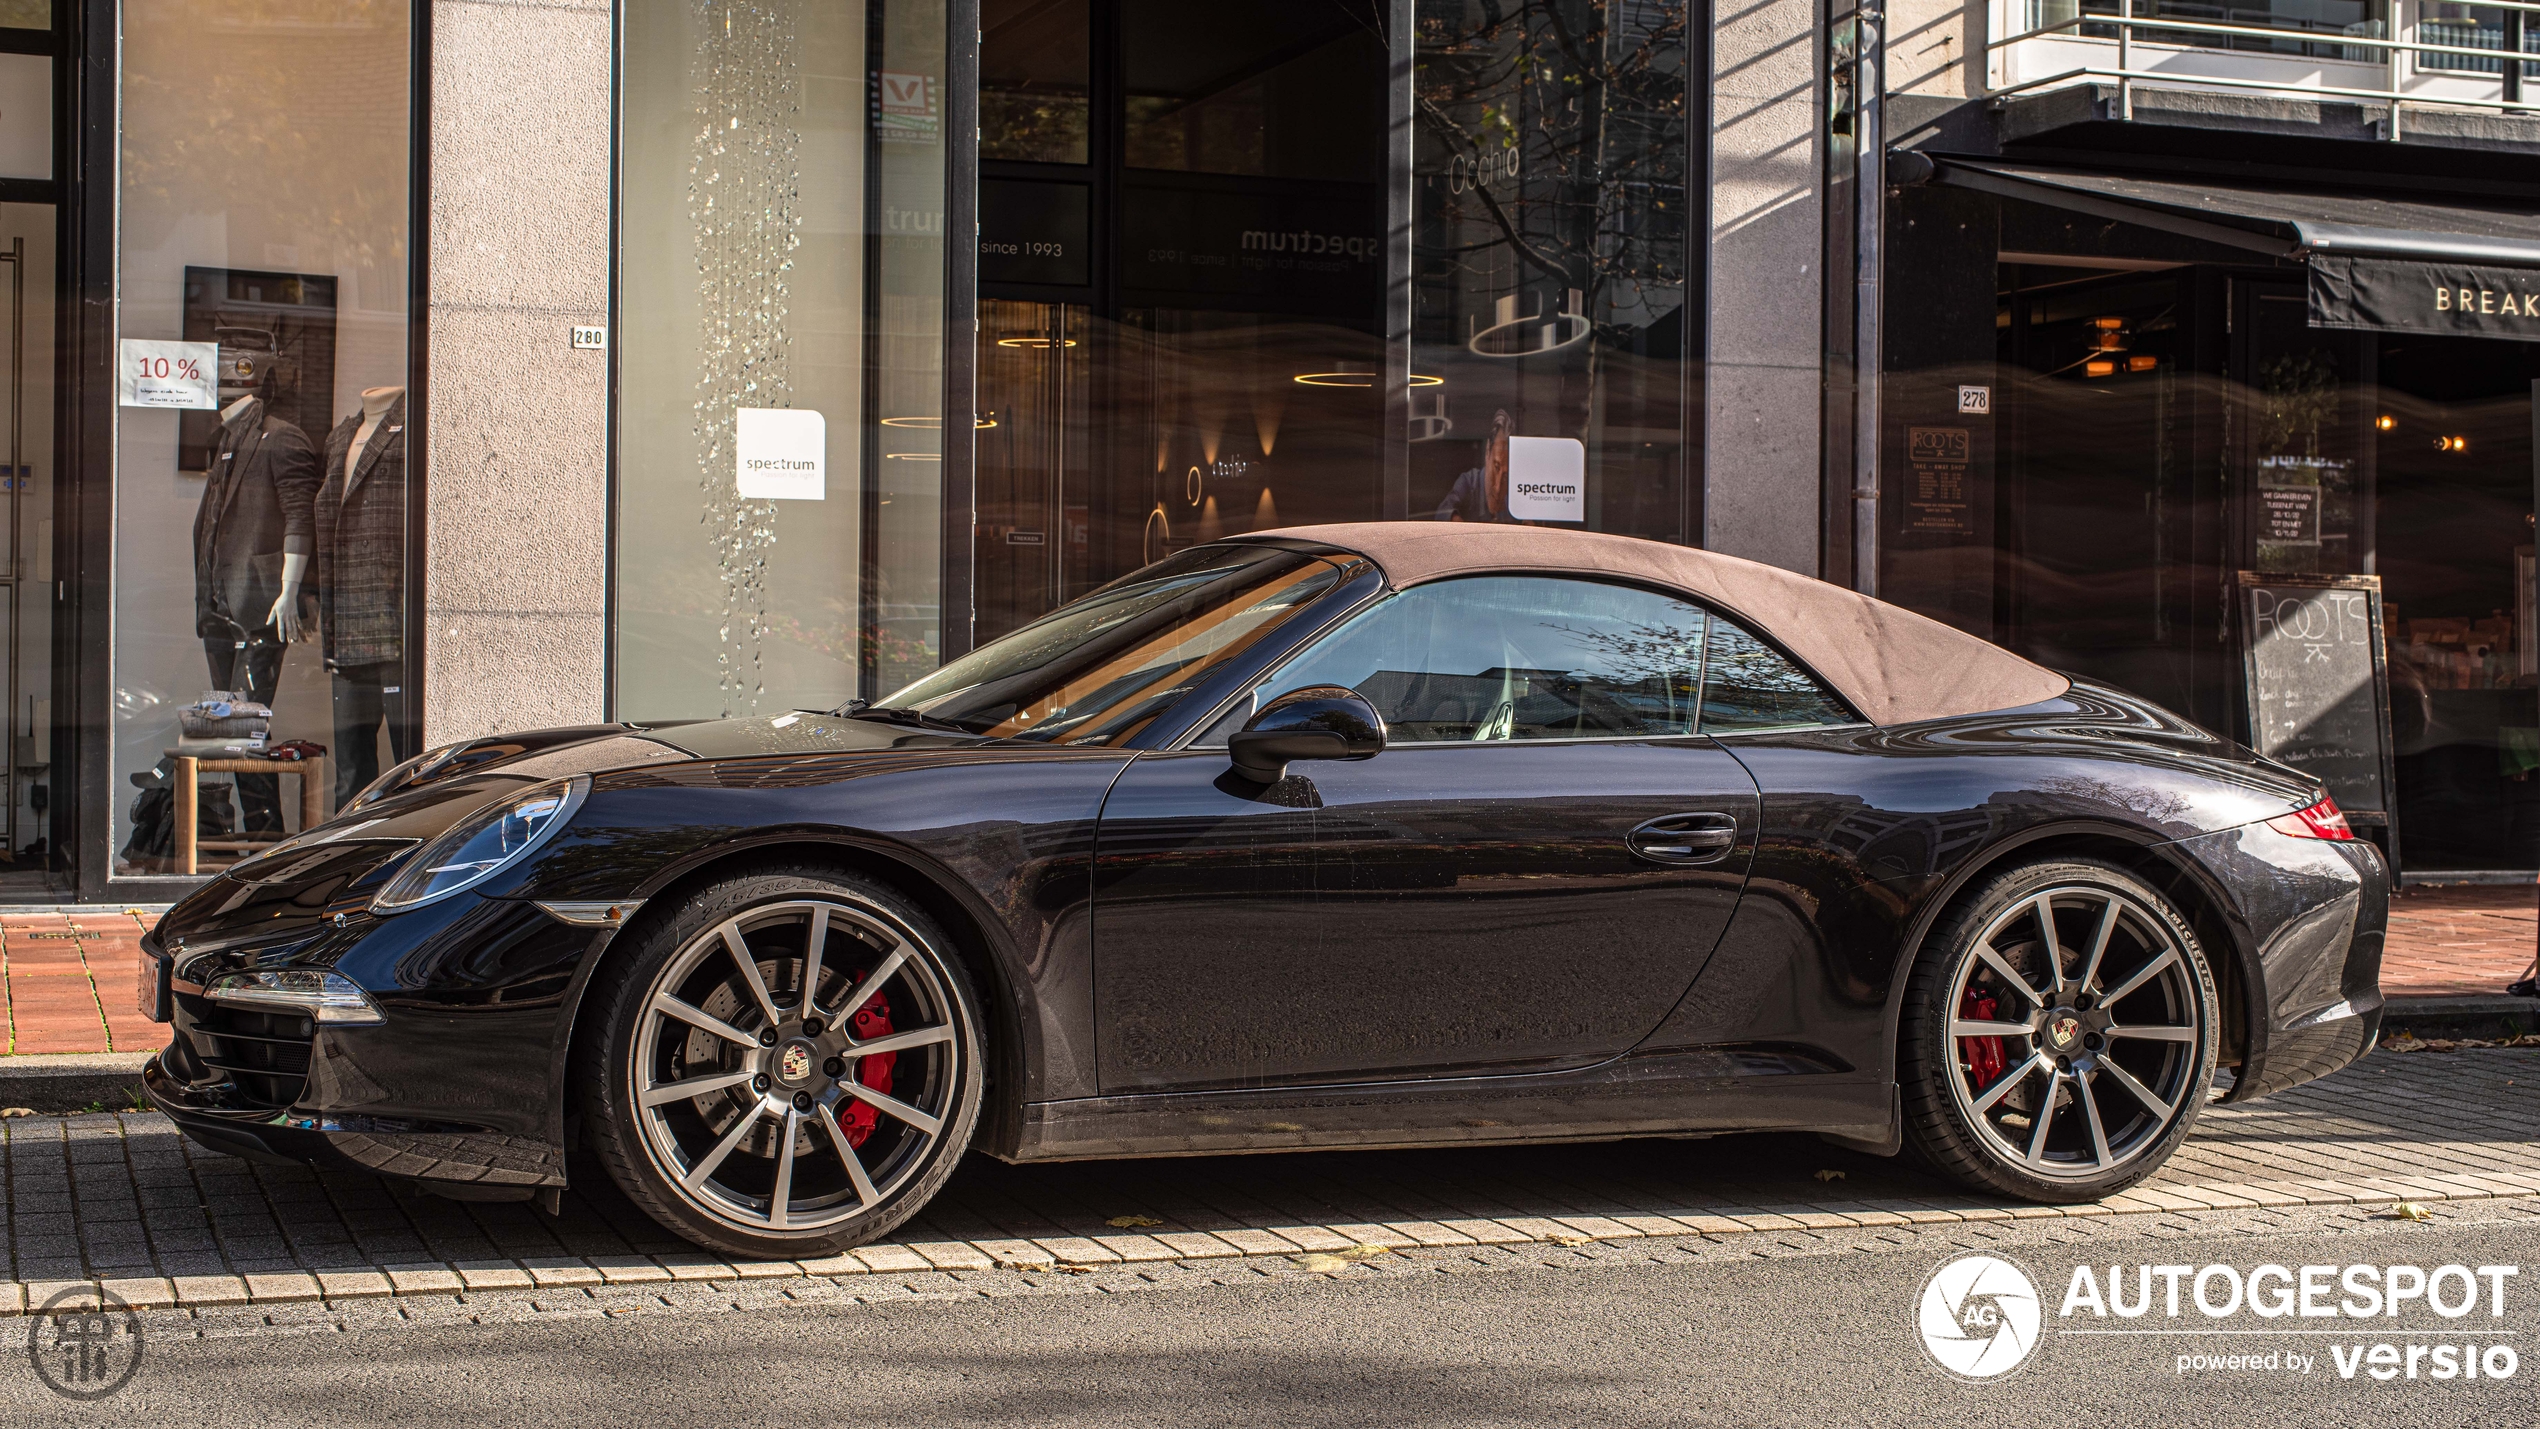
<svg viewBox="0 0 2540 1429">
<path fill-rule="evenodd" d="M 132 1005 L 140 937 L 157 914 L 0 914 L 0 1013 L 8 1053 L 147 1051 L 165 1028 Z M 2540 944 L 2540 891 L 2515 886 L 2400 888 L 2390 904 L 2383 992 L 2494 995 Z"/>
</svg>

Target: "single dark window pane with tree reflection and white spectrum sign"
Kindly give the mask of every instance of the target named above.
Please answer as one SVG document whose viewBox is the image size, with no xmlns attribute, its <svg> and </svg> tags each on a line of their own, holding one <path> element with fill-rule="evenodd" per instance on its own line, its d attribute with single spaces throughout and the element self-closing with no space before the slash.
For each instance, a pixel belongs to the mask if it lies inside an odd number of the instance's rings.
<svg viewBox="0 0 2540 1429">
<path fill-rule="evenodd" d="M 1417 8 L 1410 515 L 1699 541 L 1687 23 Z"/>
</svg>

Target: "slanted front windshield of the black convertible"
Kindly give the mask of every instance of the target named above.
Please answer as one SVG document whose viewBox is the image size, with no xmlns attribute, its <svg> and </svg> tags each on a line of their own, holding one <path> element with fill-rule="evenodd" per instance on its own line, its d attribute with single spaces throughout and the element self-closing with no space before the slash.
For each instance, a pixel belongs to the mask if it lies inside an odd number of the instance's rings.
<svg viewBox="0 0 2540 1429">
<path fill-rule="evenodd" d="M 876 701 L 993 739 L 1120 744 L 1361 561 L 1199 546 Z"/>
</svg>

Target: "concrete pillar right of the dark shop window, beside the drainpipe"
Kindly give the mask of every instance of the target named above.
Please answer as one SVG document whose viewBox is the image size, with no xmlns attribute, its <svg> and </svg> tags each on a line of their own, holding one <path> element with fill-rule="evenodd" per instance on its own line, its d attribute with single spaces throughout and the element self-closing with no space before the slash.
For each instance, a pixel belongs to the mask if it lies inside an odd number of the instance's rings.
<svg viewBox="0 0 2540 1429">
<path fill-rule="evenodd" d="M 1824 282 L 1819 0 L 1712 10 L 1702 543 L 1816 574 Z"/>
</svg>

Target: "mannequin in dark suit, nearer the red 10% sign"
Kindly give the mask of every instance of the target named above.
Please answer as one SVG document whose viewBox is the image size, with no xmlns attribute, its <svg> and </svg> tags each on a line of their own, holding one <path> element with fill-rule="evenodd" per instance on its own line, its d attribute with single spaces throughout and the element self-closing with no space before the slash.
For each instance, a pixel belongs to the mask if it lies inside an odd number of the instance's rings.
<svg viewBox="0 0 2540 1429">
<path fill-rule="evenodd" d="M 267 368 L 272 373 L 272 368 Z M 203 505 L 193 515 L 193 629 L 213 690 L 274 703 L 282 650 L 300 640 L 300 586 L 318 551 L 318 452 L 274 416 L 269 386 L 229 404 L 211 437 Z M 282 833 L 282 782 L 239 774 L 246 833 Z"/>
</svg>

